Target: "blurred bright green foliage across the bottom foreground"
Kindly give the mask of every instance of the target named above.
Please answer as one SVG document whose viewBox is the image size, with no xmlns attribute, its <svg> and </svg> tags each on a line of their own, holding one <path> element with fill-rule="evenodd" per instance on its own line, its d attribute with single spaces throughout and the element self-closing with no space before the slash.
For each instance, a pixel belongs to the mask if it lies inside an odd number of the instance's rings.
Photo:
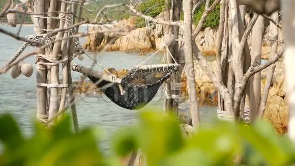
<svg viewBox="0 0 295 166">
<path fill-rule="evenodd" d="M 141 112 L 139 120 L 112 137 L 112 152 L 98 145 L 92 128 L 73 133 L 69 117 L 50 129 L 36 123 L 24 137 L 9 115 L 0 117 L 0 165 L 120 165 L 120 159 L 138 148 L 147 165 L 290 165 L 295 145 L 277 135 L 268 123 L 253 126 L 213 122 L 184 138 L 179 122 L 161 112 Z"/>
</svg>

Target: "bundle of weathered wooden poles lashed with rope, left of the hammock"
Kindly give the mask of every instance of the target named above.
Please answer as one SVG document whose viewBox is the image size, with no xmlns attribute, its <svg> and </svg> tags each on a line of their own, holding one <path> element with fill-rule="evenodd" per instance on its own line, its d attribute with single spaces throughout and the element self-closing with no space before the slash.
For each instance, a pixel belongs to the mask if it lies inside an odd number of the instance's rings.
<svg viewBox="0 0 295 166">
<path fill-rule="evenodd" d="M 57 115 L 62 114 L 66 109 L 66 98 L 69 93 L 74 128 L 75 131 L 78 131 L 74 97 L 72 90 L 69 90 L 69 85 L 72 83 L 70 62 L 74 53 L 73 43 L 75 40 L 73 38 L 67 39 L 70 35 L 76 34 L 76 31 L 74 29 L 58 31 L 53 34 L 54 37 L 48 35 L 56 29 L 66 29 L 75 23 L 73 15 L 76 14 L 77 5 L 68 2 L 68 0 L 62 2 L 35 0 L 28 2 L 27 7 L 29 12 L 36 14 L 32 16 L 35 34 L 45 37 L 42 39 L 45 42 L 56 40 L 52 47 L 45 47 L 45 49 L 38 51 L 40 54 L 37 54 L 37 118 L 43 122 L 49 121 L 50 124 L 54 124 Z M 55 11 L 58 11 L 59 14 Z M 48 14 L 44 14 L 47 12 Z M 56 27 L 57 23 L 58 27 Z M 47 35 L 50 38 L 47 38 Z M 62 65 L 62 80 L 59 77 L 60 65 Z"/>
</svg>

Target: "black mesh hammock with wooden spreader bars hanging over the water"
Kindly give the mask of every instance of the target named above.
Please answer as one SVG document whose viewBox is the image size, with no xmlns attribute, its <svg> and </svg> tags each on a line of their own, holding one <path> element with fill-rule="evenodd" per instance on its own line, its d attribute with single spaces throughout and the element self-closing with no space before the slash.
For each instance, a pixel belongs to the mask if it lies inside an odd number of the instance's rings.
<svg viewBox="0 0 295 166">
<path fill-rule="evenodd" d="M 178 64 L 137 66 L 121 79 L 77 64 L 72 69 L 85 74 L 117 105 L 139 109 L 155 97 L 162 83 L 178 70 Z"/>
</svg>

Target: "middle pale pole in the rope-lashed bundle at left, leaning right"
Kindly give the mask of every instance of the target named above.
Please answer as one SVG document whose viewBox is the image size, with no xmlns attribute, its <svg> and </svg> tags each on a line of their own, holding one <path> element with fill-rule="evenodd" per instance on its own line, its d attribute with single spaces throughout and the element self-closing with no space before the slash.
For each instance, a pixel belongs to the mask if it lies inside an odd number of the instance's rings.
<svg viewBox="0 0 295 166">
<path fill-rule="evenodd" d="M 61 12 L 60 12 L 60 18 L 63 18 L 64 14 L 66 12 L 67 8 L 67 1 L 62 2 L 61 5 Z M 63 19 L 60 19 L 60 29 L 63 29 L 65 26 L 65 21 Z M 55 36 L 55 39 L 60 39 L 64 36 L 64 32 L 60 31 Z M 56 41 L 53 45 L 52 49 L 52 60 L 58 60 L 58 53 L 61 50 L 62 41 Z M 58 67 L 59 65 L 53 65 L 51 68 L 51 82 L 50 84 L 59 84 L 59 75 L 58 75 Z M 54 118 L 57 115 L 58 111 L 58 88 L 50 88 L 50 103 L 49 103 L 49 114 L 48 118 L 49 120 Z"/>
</svg>

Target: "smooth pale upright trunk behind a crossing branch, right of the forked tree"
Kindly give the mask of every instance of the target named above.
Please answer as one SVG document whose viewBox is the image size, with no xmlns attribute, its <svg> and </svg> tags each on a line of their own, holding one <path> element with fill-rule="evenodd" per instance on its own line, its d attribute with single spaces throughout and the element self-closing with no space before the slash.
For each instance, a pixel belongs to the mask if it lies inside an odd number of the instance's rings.
<svg viewBox="0 0 295 166">
<path fill-rule="evenodd" d="M 261 49 L 264 34 L 264 18 L 259 16 L 253 26 L 252 47 L 251 47 L 251 65 L 261 62 Z M 258 116 L 258 109 L 261 99 L 261 72 L 250 77 L 250 122 L 253 122 Z"/>
</svg>

